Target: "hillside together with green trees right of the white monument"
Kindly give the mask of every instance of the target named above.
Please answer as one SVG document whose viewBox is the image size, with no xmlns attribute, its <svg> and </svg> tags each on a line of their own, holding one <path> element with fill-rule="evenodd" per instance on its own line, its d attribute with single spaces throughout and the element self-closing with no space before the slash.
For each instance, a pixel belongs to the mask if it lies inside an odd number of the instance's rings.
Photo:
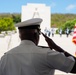
<svg viewBox="0 0 76 75">
<path fill-rule="evenodd" d="M 74 28 L 76 23 L 76 14 L 52 14 L 51 15 L 51 27 L 56 27 L 58 30 L 62 28 L 63 32 L 65 33 L 66 29 L 68 28 L 70 31 Z"/>
</svg>

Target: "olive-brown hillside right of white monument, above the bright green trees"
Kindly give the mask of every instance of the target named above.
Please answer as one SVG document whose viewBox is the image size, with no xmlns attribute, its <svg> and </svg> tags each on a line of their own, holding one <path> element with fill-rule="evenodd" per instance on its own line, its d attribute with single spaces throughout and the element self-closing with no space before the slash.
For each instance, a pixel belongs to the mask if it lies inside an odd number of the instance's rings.
<svg viewBox="0 0 76 75">
<path fill-rule="evenodd" d="M 51 14 L 51 27 L 56 28 L 63 26 L 67 21 L 72 21 L 76 18 L 76 14 Z"/>
</svg>

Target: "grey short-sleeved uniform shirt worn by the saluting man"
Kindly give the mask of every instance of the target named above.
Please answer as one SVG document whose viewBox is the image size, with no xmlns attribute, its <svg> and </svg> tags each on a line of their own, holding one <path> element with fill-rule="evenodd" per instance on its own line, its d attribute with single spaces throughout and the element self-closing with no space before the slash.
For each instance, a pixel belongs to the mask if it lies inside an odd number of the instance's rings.
<svg viewBox="0 0 76 75">
<path fill-rule="evenodd" d="M 1 58 L 0 75 L 54 75 L 55 69 L 68 73 L 74 62 L 72 57 L 63 53 L 23 40 Z"/>
</svg>

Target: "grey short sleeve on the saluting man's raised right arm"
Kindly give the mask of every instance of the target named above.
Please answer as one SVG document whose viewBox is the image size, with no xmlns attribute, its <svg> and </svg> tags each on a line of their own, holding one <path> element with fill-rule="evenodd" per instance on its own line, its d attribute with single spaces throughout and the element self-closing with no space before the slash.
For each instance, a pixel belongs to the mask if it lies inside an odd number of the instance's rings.
<svg viewBox="0 0 76 75">
<path fill-rule="evenodd" d="M 49 51 L 47 53 L 47 62 L 49 63 L 49 66 L 53 69 L 70 73 L 74 66 L 75 60 L 72 56 L 66 57 L 63 53 Z"/>
</svg>

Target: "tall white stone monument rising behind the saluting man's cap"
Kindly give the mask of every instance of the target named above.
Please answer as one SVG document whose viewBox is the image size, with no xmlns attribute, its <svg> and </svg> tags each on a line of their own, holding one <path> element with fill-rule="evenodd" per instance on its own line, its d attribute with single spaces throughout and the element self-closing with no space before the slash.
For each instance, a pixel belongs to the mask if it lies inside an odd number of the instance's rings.
<svg viewBox="0 0 76 75">
<path fill-rule="evenodd" d="M 46 6 L 45 4 L 34 4 L 28 3 L 27 5 L 22 6 L 22 14 L 21 14 L 21 21 L 30 19 L 30 18 L 42 18 L 43 22 L 41 24 L 41 30 L 44 32 L 44 29 L 50 28 L 50 7 Z"/>
</svg>

